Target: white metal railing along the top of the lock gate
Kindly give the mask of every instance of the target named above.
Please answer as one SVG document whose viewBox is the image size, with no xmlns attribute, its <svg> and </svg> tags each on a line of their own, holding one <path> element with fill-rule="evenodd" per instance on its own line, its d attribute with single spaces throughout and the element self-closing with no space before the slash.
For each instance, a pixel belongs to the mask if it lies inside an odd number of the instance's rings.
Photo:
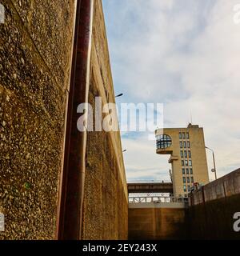
<svg viewBox="0 0 240 256">
<path fill-rule="evenodd" d="M 130 197 L 128 198 L 130 203 L 138 202 L 188 202 L 188 198 L 183 197 L 169 197 L 169 196 L 144 196 L 144 197 Z"/>
</svg>

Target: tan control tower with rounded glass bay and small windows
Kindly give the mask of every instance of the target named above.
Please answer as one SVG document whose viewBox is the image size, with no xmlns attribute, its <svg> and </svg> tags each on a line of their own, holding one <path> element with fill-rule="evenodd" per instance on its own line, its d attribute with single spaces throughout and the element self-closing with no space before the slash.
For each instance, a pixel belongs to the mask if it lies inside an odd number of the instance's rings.
<svg viewBox="0 0 240 256">
<path fill-rule="evenodd" d="M 157 154 L 170 154 L 174 196 L 186 196 L 194 182 L 209 182 L 203 128 L 189 124 L 187 128 L 156 130 Z"/>
</svg>

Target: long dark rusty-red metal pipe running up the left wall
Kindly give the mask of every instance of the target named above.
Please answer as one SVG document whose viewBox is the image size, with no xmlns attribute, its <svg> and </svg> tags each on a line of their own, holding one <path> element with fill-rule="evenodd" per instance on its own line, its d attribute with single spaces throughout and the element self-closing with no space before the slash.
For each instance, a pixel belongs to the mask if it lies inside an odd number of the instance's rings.
<svg viewBox="0 0 240 256">
<path fill-rule="evenodd" d="M 78 131 L 78 105 L 88 102 L 94 0 L 78 0 L 67 110 L 58 239 L 82 238 L 82 206 L 86 165 L 86 130 Z"/>
</svg>

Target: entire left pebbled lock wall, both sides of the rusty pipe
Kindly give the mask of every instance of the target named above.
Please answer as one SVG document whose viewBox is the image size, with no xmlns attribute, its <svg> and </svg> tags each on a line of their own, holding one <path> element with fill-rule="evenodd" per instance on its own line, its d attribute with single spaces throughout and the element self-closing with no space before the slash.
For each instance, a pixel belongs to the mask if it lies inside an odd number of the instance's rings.
<svg viewBox="0 0 240 256">
<path fill-rule="evenodd" d="M 0 239 L 54 239 L 70 85 L 74 0 L 0 3 Z M 90 102 L 114 102 L 102 14 L 94 3 Z M 127 238 L 118 133 L 88 134 L 82 238 Z"/>
</svg>

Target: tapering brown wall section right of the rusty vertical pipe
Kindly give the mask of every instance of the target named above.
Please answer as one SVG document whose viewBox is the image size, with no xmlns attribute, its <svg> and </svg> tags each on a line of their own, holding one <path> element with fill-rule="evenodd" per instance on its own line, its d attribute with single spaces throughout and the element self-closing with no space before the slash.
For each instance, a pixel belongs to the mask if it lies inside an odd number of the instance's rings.
<svg viewBox="0 0 240 256">
<path fill-rule="evenodd" d="M 90 98 L 114 102 L 114 86 L 106 41 L 102 2 L 94 1 Z M 118 132 L 89 132 L 86 152 L 84 239 L 126 239 L 128 193 Z"/>
</svg>

